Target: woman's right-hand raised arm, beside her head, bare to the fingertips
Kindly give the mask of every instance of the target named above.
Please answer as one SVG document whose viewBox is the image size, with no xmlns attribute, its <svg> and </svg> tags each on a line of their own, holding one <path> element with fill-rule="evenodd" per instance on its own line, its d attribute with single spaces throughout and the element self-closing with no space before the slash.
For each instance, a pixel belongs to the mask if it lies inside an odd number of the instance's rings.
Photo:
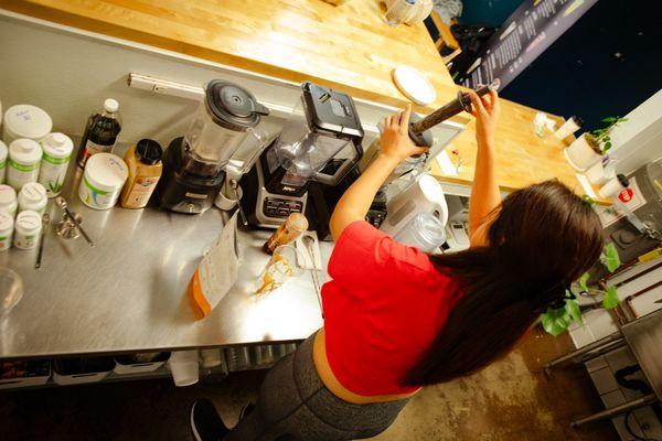
<svg viewBox="0 0 662 441">
<path fill-rule="evenodd" d="M 496 183 L 496 153 L 494 132 L 501 108 L 495 90 L 479 97 L 470 92 L 471 114 L 476 117 L 476 142 L 478 153 L 473 187 L 469 201 L 469 241 L 472 247 L 488 245 L 487 227 L 489 215 L 501 204 L 501 194 Z"/>
</svg>

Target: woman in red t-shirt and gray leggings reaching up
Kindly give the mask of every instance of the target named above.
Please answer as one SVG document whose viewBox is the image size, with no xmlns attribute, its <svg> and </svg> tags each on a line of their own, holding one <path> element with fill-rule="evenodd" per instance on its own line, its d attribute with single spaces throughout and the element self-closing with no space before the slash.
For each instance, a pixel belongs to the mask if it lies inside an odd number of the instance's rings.
<svg viewBox="0 0 662 441">
<path fill-rule="evenodd" d="M 192 407 L 199 440 L 353 440 L 385 430 L 423 386 L 505 355 L 600 256 L 598 216 L 556 181 L 500 200 L 495 92 L 471 93 L 478 157 L 470 248 L 428 256 L 365 220 L 384 180 L 423 153 L 410 107 L 386 119 L 378 158 L 339 201 L 324 327 L 266 376 L 256 408 L 228 432 L 209 401 Z M 204 432 L 204 433 L 203 433 Z"/>
</svg>

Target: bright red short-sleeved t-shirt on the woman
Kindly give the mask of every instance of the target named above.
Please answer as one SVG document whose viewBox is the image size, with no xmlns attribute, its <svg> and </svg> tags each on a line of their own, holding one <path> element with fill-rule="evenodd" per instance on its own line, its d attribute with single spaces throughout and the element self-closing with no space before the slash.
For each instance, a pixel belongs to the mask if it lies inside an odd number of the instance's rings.
<svg viewBox="0 0 662 441">
<path fill-rule="evenodd" d="M 415 391 L 399 381 L 444 326 L 459 283 L 363 220 L 340 235 L 329 276 L 322 302 L 335 378 L 361 396 Z"/>
</svg>

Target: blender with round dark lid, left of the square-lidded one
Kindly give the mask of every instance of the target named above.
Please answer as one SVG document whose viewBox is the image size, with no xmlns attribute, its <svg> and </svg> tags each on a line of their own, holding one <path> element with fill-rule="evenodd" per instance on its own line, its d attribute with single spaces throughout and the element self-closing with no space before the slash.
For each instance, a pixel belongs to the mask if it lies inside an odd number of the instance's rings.
<svg viewBox="0 0 662 441">
<path fill-rule="evenodd" d="M 163 157 L 159 205 L 188 214 L 210 208 L 224 184 L 226 165 L 248 136 L 255 142 L 254 158 L 264 149 L 264 135 L 256 127 L 266 115 L 269 110 L 242 86 L 221 79 L 207 83 L 193 122 Z"/>
</svg>

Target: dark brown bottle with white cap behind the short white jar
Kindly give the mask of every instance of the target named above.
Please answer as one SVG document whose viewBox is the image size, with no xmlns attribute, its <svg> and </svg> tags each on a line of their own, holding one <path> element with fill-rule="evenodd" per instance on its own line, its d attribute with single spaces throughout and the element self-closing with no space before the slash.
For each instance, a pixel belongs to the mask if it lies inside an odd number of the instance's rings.
<svg viewBox="0 0 662 441">
<path fill-rule="evenodd" d="M 104 101 L 104 108 L 87 119 L 76 157 L 78 165 L 85 166 L 92 155 L 109 153 L 113 150 L 121 130 L 118 109 L 119 103 L 108 98 Z"/>
</svg>

